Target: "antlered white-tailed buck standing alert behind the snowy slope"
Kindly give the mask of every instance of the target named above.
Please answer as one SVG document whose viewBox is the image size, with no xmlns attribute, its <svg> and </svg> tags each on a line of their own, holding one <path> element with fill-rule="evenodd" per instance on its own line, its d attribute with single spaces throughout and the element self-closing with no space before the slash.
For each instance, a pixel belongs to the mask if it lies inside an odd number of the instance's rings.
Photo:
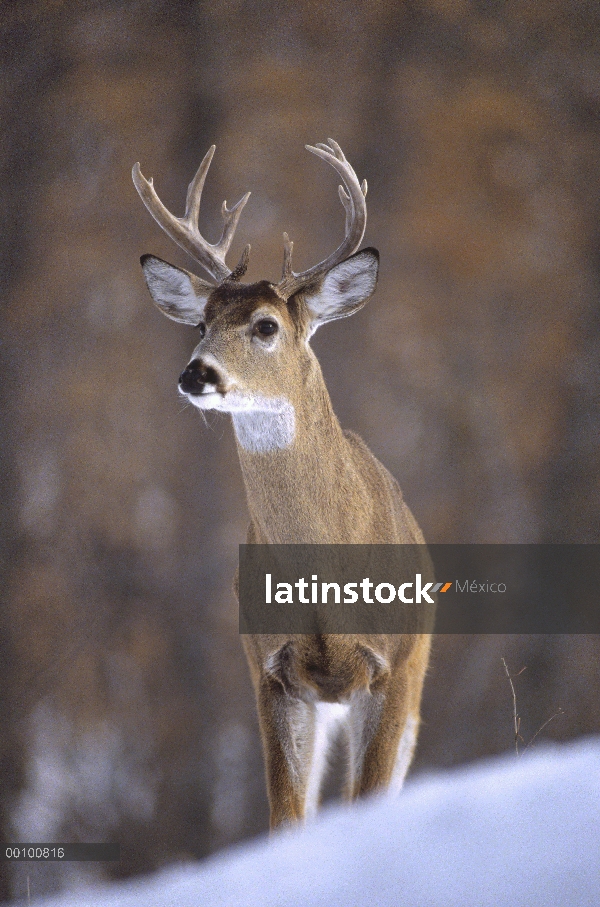
<svg viewBox="0 0 600 907">
<path fill-rule="evenodd" d="M 339 145 L 306 146 L 345 188 L 345 237 L 320 264 L 296 274 L 284 235 L 279 283 L 243 284 L 250 246 L 225 264 L 250 193 L 228 209 L 216 245 L 198 230 L 202 187 L 214 146 L 174 217 L 139 164 L 133 181 L 165 232 L 210 274 L 211 283 L 153 255 L 141 259 L 156 305 L 199 328 L 179 390 L 200 410 L 231 413 L 250 510 L 249 544 L 423 544 L 400 488 L 359 437 L 342 431 L 309 346 L 318 327 L 357 312 L 375 290 L 379 255 L 357 251 L 367 210 Z M 329 729 L 344 719 L 347 795 L 402 784 L 415 746 L 429 658 L 426 634 L 244 636 L 256 690 L 271 827 L 317 806 Z"/>
</svg>

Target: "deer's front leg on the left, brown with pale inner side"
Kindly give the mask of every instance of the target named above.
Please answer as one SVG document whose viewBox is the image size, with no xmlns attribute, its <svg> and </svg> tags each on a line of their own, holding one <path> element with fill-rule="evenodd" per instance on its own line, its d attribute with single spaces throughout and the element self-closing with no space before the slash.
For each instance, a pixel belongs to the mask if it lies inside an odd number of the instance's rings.
<svg viewBox="0 0 600 907">
<path fill-rule="evenodd" d="M 314 706 L 292 698 L 273 677 L 258 689 L 271 829 L 302 821 L 314 744 Z"/>
</svg>

